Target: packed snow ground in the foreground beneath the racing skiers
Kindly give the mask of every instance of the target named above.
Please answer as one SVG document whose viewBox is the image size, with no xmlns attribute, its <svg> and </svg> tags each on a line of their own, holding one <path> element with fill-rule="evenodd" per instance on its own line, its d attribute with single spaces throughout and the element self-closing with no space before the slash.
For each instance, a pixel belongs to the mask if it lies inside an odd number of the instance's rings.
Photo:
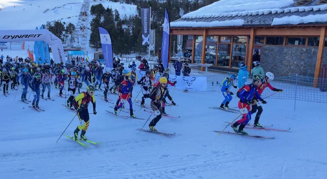
<svg viewBox="0 0 327 179">
<path fill-rule="evenodd" d="M 85 85 L 85 84 L 84 84 Z M 166 107 L 166 112 L 177 119 L 163 117 L 156 128 L 162 132 L 176 132 L 167 137 L 139 132 L 146 120 L 124 119 L 105 110 L 113 111 L 96 91 L 97 114 L 90 114 L 86 136 L 101 144 L 83 147 L 60 134 L 76 114 L 63 106 L 66 99 L 52 87 L 55 101 L 40 99 L 45 112 L 37 112 L 18 101 L 21 90 L 10 90 L 8 97 L 0 95 L 0 178 L 4 179 L 323 179 L 327 175 L 326 104 L 297 101 L 294 111 L 292 100 L 267 99 L 261 115 L 262 125 L 289 132 L 245 129 L 249 134 L 274 136 L 275 139 L 256 139 L 245 136 L 217 134 L 226 122 L 238 114 L 208 109 L 219 106 L 221 93 L 189 91 L 183 93 L 169 87 L 178 106 Z M 266 89 L 268 90 L 268 89 Z M 27 97 L 31 94 L 28 90 Z M 140 85 L 134 86 L 133 99 Z M 2 92 L 2 91 L 1 91 Z M 14 100 L 15 93 L 16 99 Z M 64 92 L 65 93 L 65 92 Z M 111 102 L 118 96 L 109 95 Z M 31 100 L 32 97 L 29 97 Z M 231 107 L 236 107 L 234 96 Z M 146 105 L 150 103 L 146 99 Z M 134 114 L 149 118 L 133 104 Z M 24 109 L 25 108 L 25 109 Z M 129 105 L 125 105 L 129 108 Z M 92 104 L 89 105 L 92 113 Z M 129 115 L 120 112 L 120 115 Z M 150 116 L 150 120 L 154 116 Z M 253 116 L 254 118 L 254 116 Z M 253 119 L 250 121 L 253 124 Z M 148 129 L 148 123 L 145 129 Z M 64 134 L 73 135 L 77 117 Z M 227 127 L 226 131 L 232 131 Z M 85 142 L 86 143 L 86 142 Z"/>
</svg>

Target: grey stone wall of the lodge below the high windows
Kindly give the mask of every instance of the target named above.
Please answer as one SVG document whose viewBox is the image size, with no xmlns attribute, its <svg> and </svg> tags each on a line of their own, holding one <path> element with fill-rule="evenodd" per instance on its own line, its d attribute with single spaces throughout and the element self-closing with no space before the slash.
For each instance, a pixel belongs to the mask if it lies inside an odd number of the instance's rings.
<svg viewBox="0 0 327 179">
<path fill-rule="evenodd" d="M 263 46 L 260 62 L 265 72 L 275 76 L 303 75 L 314 77 L 318 47 Z M 323 62 L 327 63 L 327 48 Z"/>
</svg>

